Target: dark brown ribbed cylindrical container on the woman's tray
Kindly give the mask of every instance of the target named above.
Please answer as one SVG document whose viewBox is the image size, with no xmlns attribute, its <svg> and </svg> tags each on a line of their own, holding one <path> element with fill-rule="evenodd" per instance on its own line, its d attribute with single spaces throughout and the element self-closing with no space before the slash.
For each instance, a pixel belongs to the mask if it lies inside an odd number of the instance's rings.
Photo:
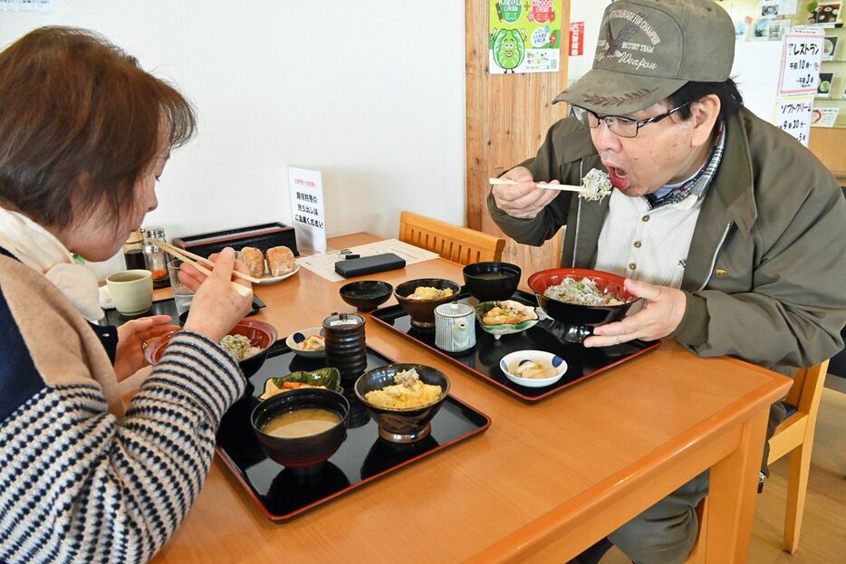
<svg viewBox="0 0 846 564">
<path fill-rule="evenodd" d="M 356 313 L 332 313 L 323 320 L 326 359 L 338 368 L 341 380 L 358 378 L 367 368 L 364 318 Z"/>
</svg>

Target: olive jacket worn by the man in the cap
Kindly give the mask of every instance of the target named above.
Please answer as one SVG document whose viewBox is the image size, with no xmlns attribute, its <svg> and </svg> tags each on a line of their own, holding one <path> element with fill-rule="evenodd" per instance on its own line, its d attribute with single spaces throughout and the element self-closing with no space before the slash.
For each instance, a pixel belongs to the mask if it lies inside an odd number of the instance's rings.
<svg viewBox="0 0 846 564">
<path fill-rule="evenodd" d="M 523 163 L 534 179 L 580 185 L 602 169 L 590 130 L 557 122 Z M 540 245 L 562 225 L 562 265 L 591 268 L 610 198 L 562 192 L 534 219 L 487 204 L 505 234 Z M 748 110 L 726 121 L 726 150 L 708 188 L 671 335 L 703 357 L 732 355 L 790 374 L 832 357 L 846 323 L 846 201 L 810 151 Z"/>
</svg>

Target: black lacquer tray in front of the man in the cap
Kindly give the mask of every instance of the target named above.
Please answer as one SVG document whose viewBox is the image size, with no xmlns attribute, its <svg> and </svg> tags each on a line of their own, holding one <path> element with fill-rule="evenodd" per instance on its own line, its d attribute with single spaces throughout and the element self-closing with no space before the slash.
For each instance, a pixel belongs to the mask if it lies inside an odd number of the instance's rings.
<svg viewBox="0 0 846 564">
<path fill-rule="evenodd" d="M 517 291 L 511 299 L 537 306 L 534 294 L 528 292 Z M 458 294 L 458 301 L 469 303 L 474 307 L 478 304 L 478 301 L 472 298 L 466 289 Z M 581 344 L 565 342 L 563 336 L 567 326 L 551 319 L 542 320 L 522 333 L 503 335 L 497 340 L 490 333 L 485 333 L 476 321 L 476 346 L 463 353 L 451 353 L 435 346 L 435 330 L 412 327 L 409 314 L 399 305 L 372 311 L 370 319 L 383 323 L 407 339 L 434 350 L 476 377 L 483 378 L 526 402 L 536 402 L 544 397 L 552 396 L 565 387 L 635 358 L 648 350 L 656 349 L 661 344 L 656 340 L 633 340 L 613 347 L 585 349 Z M 545 350 L 563 358 L 567 362 L 564 378 L 547 387 L 524 387 L 505 378 L 505 374 L 499 368 L 500 359 L 508 353 L 526 349 Z"/>
</svg>

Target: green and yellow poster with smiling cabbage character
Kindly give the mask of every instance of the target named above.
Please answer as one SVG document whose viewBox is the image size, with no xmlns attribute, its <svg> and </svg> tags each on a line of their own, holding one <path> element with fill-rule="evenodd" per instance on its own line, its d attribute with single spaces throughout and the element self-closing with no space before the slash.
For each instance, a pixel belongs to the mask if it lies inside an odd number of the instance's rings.
<svg viewBox="0 0 846 564">
<path fill-rule="evenodd" d="M 490 0 L 488 68 L 491 74 L 558 72 L 561 3 L 562 0 Z"/>
</svg>

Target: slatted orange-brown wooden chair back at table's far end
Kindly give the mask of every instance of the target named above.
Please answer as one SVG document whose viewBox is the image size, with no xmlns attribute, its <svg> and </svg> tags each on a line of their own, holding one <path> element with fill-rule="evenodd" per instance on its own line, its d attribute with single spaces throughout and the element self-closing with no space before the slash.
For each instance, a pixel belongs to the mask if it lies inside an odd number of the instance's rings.
<svg viewBox="0 0 846 564">
<path fill-rule="evenodd" d="M 505 239 L 424 215 L 399 215 L 399 240 L 459 264 L 500 261 Z"/>
</svg>

